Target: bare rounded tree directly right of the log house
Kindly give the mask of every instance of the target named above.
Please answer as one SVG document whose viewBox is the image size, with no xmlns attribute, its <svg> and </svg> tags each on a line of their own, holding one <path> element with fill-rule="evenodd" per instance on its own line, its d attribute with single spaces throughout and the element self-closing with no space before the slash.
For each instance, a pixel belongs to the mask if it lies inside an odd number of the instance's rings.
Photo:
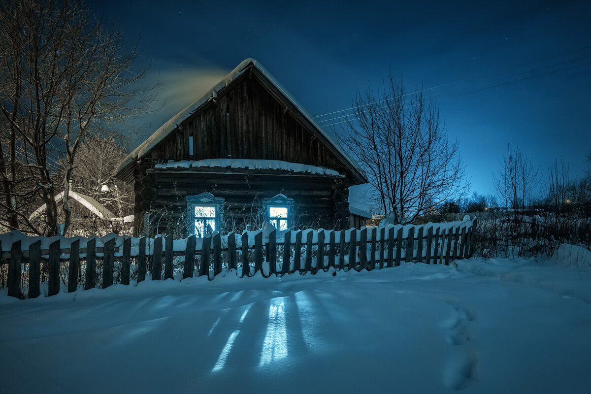
<svg viewBox="0 0 591 394">
<path fill-rule="evenodd" d="M 379 191 L 379 204 L 394 223 L 412 223 L 421 211 L 457 200 L 468 188 L 457 142 L 450 144 L 439 109 L 423 92 L 407 94 L 391 74 L 382 93 L 357 93 L 355 121 L 340 142 Z"/>
</svg>

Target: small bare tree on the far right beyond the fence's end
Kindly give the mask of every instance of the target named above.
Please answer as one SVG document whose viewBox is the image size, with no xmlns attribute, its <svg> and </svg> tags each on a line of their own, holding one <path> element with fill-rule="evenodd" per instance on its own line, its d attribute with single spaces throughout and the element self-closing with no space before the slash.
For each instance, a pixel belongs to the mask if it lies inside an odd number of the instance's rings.
<svg viewBox="0 0 591 394">
<path fill-rule="evenodd" d="M 531 158 L 522 154 L 519 148 L 511 149 L 511 144 L 507 146 L 507 156 L 503 156 L 501 167 L 496 175 L 492 174 L 496 193 L 505 202 L 505 206 L 513 210 L 515 220 L 521 222 L 525 207 L 540 183 L 540 167 L 535 168 Z"/>
</svg>

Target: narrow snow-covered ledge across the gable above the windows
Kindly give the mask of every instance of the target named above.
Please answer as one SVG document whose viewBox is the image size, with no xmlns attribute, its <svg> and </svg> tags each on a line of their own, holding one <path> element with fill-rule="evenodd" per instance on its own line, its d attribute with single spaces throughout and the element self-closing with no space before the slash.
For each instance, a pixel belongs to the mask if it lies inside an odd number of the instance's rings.
<svg viewBox="0 0 591 394">
<path fill-rule="evenodd" d="M 282 160 L 263 159 L 203 159 L 203 160 L 167 160 L 155 165 L 155 168 L 248 168 L 249 170 L 286 170 L 292 172 L 309 172 L 310 174 L 342 176 L 335 170 L 316 165 L 291 163 Z"/>
</svg>

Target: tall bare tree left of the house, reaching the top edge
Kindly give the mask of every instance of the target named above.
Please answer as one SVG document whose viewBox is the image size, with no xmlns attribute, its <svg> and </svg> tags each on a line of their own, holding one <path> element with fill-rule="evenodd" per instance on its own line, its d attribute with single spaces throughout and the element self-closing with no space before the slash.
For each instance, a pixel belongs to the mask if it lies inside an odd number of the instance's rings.
<svg viewBox="0 0 591 394">
<path fill-rule="evenodd" d="M 146 108 L 151 97 L 134 87 L 146 70 L 135 68 L 137 46 L 124 48 L 118 31 L 77 0 L 2 2 L 0 43 L 0 224 L 65 233 L 80 144 L 121 135 L 125 116 Z M 61 190 L 62 225 L 55 198 Z M 34 198 L 47 207 L 43 228 L 27 216 Z"/>
</svg>

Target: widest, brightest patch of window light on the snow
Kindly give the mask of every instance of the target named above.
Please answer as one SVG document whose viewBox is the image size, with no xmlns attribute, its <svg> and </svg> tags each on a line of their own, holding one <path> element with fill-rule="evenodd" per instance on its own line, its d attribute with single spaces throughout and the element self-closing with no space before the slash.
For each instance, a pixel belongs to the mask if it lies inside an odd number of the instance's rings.
<svg viewBox="0 0 591 394">
<path fill-rule="evenodd" d="M 281 298 L 274 298 L 269 305 L 267 333 L 262 344 L 259 367 L 287 357 L 287 325 L 285 307 Z"/>
</svg>

